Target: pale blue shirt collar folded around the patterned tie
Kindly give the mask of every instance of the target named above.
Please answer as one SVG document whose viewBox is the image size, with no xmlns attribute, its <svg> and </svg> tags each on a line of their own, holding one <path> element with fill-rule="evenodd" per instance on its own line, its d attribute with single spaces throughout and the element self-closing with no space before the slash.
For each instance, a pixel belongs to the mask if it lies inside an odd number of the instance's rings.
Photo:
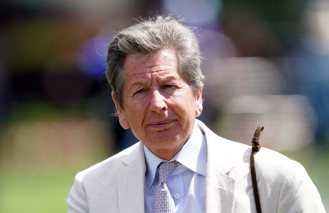
<svg viewBox="0 0 329 213">
<path fill-rule="evenodd" d="M 151 187 L 158 165 L 165 160 L 157 157 L 147 147 L 143 146 L 143 148 L 147 165 L 145 181 L 147 186 Z M 206 176 L 207 144 L 204 135 L 196 124 L 190 139 L 170 161 L 178 161 L 193 172 Z"/>
</svg>

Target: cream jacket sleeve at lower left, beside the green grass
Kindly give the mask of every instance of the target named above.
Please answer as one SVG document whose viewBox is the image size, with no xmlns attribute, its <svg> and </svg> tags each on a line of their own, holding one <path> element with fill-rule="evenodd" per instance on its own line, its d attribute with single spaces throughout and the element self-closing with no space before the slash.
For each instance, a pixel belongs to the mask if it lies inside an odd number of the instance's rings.
<svg viewBox="0 0 329 213">
<path fill-rule="evenodd" d="M 67 213 L 88 213 L 88 201 L 83 188 L 79 173 L 75 177 L 74 183 L 70 189 L 67 204 Z"/>
</svg>

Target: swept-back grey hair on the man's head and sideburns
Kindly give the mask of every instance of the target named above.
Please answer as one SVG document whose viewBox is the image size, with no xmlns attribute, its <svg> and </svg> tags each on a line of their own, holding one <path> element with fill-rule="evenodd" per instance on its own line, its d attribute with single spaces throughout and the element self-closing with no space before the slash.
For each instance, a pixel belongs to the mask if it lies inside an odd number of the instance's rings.
<svg viewBox="0 0 329 213">
<path fill-rule="evenodd" d="M 106 77 L 120 107 L 123 108 L 123 64 L 130 54 L 149 56 L 163 49 L 174 50 L 179 71 L 196 94 L 204 86 L 204 75 L 200 68 L 202 56 L 194 28 L 182 25 L 171 16 L 137 21 L 137 24 L 118 32 L 107 49 Z"/>
</svg>

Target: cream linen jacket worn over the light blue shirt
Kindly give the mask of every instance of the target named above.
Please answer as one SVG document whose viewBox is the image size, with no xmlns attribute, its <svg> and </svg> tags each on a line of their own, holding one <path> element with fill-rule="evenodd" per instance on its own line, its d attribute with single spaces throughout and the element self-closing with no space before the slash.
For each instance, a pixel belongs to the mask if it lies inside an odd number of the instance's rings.
<svg viewBox="0 0 329 213">
<path fill-rule="evenodd" d="M 256 212 L 250 176 L 251 147 L 223 139 L 196 120 L 207 140 L 206 212 Z M 304 167 L 262 148 L 255 154 L 262 212 L 325 212 Z M 142 143 L 77 174 L 68 213 L 144 212 Z"/>
</svg>

